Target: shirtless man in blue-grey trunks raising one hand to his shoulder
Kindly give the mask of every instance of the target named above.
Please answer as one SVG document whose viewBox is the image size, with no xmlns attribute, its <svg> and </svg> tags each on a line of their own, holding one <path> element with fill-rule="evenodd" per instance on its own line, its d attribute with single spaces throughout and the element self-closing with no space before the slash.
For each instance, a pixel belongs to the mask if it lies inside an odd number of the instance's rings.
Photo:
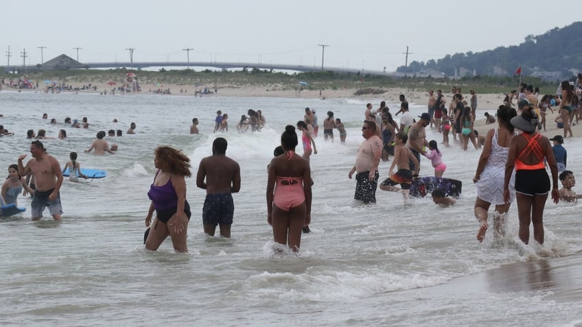
<svg viewBox="0 0 582 327">
<path fill-rule="evenodd" d="M 45 146 L 36 140 L 30 144 L 30 154 L 32 159 L 23 166 L 22 160 L 26 154 L 19 156 L 19 175 L 26 176 L 30 173 L 34 176 L 36 190 L 32 197 L 32 220 L 36 221 L 43 217 L 45 207 L 55 220 L 60 220 L 62 206 L 60 204 L 60 186 L 62 185 L 62 171 L 58 160 L 54 156 L 45 153 Z"/>
</svg>

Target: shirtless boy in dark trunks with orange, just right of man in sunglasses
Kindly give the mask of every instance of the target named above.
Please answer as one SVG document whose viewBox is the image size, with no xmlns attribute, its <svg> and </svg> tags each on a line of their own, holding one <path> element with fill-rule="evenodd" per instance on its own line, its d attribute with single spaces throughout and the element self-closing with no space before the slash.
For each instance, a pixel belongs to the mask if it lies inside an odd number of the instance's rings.
<svg viewBox="0 0 582 327">
<path fill-rule="evenodd" d="M 399 192 L 404 191 L 402 194 L 406 198 L 406 190 L 410 189 L 412 186 L 412 179 L 418 177 L 419 173 L 419 161 L 412 154 L 412 151 L 405 146 L 408 136 L 404 133 L 396 134 L 396 147 L 394 148 L 394 160 L 392 160 L 392 165 L 388 171 L 390 177 L 386 178 L 382 184 L 380 184 L 380 189 L 382 191 L 393 191 Z M 410 170 L 410 162 L 415 164 L 414 173 Z M 394 166 L 397 165 L 398 171 L 394 173 Z M 397 188 L 395 185 L 400 184 L 402 189 Z"/>
</svg>

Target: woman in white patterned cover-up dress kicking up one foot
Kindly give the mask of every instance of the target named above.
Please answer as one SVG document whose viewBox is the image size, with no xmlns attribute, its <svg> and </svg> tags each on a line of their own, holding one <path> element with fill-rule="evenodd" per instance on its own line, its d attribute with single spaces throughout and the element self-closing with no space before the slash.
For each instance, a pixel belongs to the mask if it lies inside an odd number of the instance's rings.
<svg viewBox="0 0 582 327">
<path fill-rule="evenodd" d="M 511 202 L 515 199 L 513 191 L 514 175 L 511 177 L 510 189 L 511 200 L 504 201 L 503 196 L 503 176 L 505 173 L 505 162 L 509 152 L 509 141 L 515 134 L 513 126 L 509 121 L 517 116 L 517 112 L 510 106 L 500 106 L 497 110 L 497 121 L 499 128 L 491 129 L 485 136 L 485 146 L 481 152 L 477 171 L 473 182 L 477 186 L 477 199 L 475 201 L 475 217 L 479 221 L 479 231 L 477 241 L 485 239 L 485 232 L 489 225 L 487 223 L 487 211 L 491 204 L 495 205 L 493 213 L 493 226 L 497 232 L 503 232 L 504 216 L 509 211 Z"/>
</svg>

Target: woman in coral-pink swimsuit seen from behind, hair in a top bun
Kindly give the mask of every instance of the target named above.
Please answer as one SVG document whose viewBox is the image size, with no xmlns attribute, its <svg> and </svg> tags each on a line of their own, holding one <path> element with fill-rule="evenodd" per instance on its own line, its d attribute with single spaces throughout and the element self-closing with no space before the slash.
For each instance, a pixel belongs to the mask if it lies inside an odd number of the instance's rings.
<svg viewBox="0 0 582 327">
<path fill-rule="evenodd" d="M 311 222 L 312 200 L 310 164 L 295 155 L 297 144 L 295 128 L 287 125 L 281 135 L 285 153 L 271 160 L 267 180 L 267 221 L 273 239 L 294 252 L 299 251 L 303 226 Z"/>
</svg>

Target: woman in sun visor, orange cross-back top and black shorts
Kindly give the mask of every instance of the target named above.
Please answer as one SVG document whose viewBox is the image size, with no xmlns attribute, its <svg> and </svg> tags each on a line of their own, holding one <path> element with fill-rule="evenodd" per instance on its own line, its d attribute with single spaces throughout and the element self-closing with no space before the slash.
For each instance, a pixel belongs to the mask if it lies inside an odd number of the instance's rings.
<svg viewBox="0 0 582 327">
<path fill-rule="evenodd" d="M 544 244 L 544 207 L 550 191 L 550 178 L 544 160 L 552 172 L 552 200 L 559 202 L 558 169 L 548 138 L 537 132 L 539 122 L 533 106 L 524 108 L 520 116 L 511 119 L 511 125 L 522 134 L 511 138 L 505 164 L 504 198 L 510 201 L 509 181 L 515 167 L 515 198 L 520 218 L 520 239 L 528 244 L 529 226 L 533 222 L 533 238 Z"/>
</svg>

